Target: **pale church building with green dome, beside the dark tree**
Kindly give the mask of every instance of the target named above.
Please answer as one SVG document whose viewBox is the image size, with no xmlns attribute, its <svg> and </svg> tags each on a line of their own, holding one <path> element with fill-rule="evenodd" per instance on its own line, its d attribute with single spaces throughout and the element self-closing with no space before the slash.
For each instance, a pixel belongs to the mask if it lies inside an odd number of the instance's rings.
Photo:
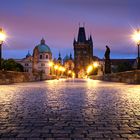
<svg viewBox="0 0 140 140">
<path fill-rule="evenodd" d="M 40 44 L 35 46 L 33 55 L 29 52 L 23 59 L 17 59 L 16 62 L 24 67 L 25 72 L 29 73 L 42 73 L 45 75 L 50 74 L 49 62 L 52 60 L 52 52 L 45 40 L 42 39 Z"/>
</svg>

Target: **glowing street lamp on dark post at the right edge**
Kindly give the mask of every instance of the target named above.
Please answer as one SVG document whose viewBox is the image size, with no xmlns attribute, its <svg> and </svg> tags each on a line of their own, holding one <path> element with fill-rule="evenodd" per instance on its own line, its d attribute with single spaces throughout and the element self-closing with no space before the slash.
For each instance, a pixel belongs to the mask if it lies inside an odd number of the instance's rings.
<svg viewBox="0 0 140 140">
<path fill-rule="evenodd" d="M 137 69 L 140 69 L 140 29 L 137 29 L 132 35 L 133 40 L 138 46 L 138 58 L 137 58 Z"/>
</svg>

